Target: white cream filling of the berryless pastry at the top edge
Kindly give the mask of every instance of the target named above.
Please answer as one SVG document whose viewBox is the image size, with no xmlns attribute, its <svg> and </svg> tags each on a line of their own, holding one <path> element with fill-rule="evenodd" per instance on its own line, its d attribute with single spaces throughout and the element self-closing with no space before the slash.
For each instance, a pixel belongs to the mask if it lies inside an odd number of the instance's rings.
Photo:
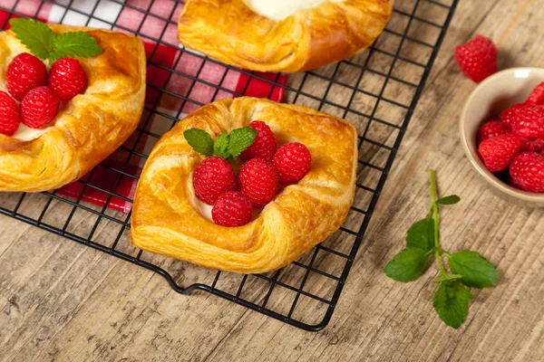
<svg viewBox="0 0 544 362">
<path fill-rule="evenodd" d="M 301 10 L 311 9 L 326 2 L 341 3 L 345 0 L 244 0 L 254 13 L 272 20 L 283 20 Z"/>
</svg>

